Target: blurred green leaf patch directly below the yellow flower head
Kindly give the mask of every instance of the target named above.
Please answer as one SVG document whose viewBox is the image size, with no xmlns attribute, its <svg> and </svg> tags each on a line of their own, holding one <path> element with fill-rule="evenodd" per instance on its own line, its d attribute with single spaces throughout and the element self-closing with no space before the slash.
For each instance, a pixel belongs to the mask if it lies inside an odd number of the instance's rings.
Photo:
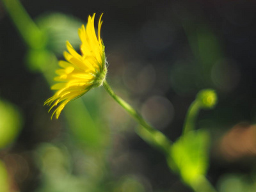
<svg viewBox="0 0 256 192">
<path fill-rule="evenodd" d="M 95 110 L 100 108 L 97 93 L 92 91 L 86 96 L 88 96 L 86 99 L 76 99 L 67 106 L 65 109 L 67 122 L 77 141 L 84 143 L 87 147 L 102 148 L 108 145 L 108 127 L 102 126 L 100 116 L 92 116 L 98 114 Z M 90 112 L 85 103 L 93 105 Z"/>
</svg>

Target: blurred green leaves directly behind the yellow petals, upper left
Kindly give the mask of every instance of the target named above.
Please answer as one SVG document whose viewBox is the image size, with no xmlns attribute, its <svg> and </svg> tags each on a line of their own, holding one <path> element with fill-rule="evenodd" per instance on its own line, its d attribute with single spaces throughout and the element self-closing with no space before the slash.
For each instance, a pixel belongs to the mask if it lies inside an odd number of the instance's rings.
<svg viewBox="0 0 256 192">
<path fill-rule="evenodd" d="M 47 81 L 52 84 L 58 63 L 56 56 L 62 56 L 66 49 L 66 41 L 68 40 L 75 48 L 79 47 L 77 29 L 81 27 L 82 21 L 61 13 L 47 13 L 38 17 L 35 23 L 44 34 L 44 40 L 38 40 L 38 44 L 44 44 L 40 48 L 31 46 L 31 49 L 28 49 L 28 68 L 34 72 L 43 72 Z"/>
</svg>

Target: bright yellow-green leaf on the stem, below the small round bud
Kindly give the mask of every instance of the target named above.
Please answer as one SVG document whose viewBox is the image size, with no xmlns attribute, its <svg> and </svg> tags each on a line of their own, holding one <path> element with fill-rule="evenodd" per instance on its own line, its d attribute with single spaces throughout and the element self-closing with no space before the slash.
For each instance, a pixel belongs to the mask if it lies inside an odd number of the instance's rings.
<svg viewBox="0 0 256 192">
<path fill-rule="evenodd" d="M 191 185 L 208 168 L 209 135 L 205 131 L 188 132 L 173 143 L 168 164 Z"/>
</svg>

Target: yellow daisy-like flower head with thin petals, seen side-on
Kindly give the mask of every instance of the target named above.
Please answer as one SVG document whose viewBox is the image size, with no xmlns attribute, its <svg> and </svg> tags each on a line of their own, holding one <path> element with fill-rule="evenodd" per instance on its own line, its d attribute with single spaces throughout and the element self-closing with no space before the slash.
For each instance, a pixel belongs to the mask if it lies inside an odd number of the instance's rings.
<svg viewBox="0 0 256 192">
<path fill-rule="evenodd" d="M 57 77 L 55 81 L 61 83 L 54 84 L 51 89 L 58 90 L 51 98 L 45 101 L 45 104 L 58 106 L 54 112 L 56 118 L 60 116 L 62 109 L 70 100 L 81 97 L 95 86 L 101 86 L 106 78 L 107 67 L 104 45 L 100 38 L 100 28 L 102 25 L 102 15 L 100 15 L 98 24 L 98 34 L 95 33 L 94 18 L 88 17 L 86 28 L 84 25 L 78 29 L 78 35 L 81 39 L 81 54 L 78 54 L 72 45 L 67 42 L 68 52 L 64 52 L 67 61 L 60 61 L 61 69 L 56 70 Z"/>
</svg>

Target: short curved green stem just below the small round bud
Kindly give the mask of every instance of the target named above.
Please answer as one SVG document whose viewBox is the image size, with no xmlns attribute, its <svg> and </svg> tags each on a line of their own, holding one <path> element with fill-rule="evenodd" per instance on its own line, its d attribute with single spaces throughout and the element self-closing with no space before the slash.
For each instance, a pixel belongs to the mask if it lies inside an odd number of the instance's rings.
<svg viewBox="0 0 256 192">
<path fill-rule="evenodd" d="M 183 133 L 182 133 L 183 135 L 195 129 L 195 120 L 199 111 L 200 111 L 200 102 L 198 102 L 198 100 L 195 99 L 189 106 L 188 113 L 184 122 Z"/>
</svg>

